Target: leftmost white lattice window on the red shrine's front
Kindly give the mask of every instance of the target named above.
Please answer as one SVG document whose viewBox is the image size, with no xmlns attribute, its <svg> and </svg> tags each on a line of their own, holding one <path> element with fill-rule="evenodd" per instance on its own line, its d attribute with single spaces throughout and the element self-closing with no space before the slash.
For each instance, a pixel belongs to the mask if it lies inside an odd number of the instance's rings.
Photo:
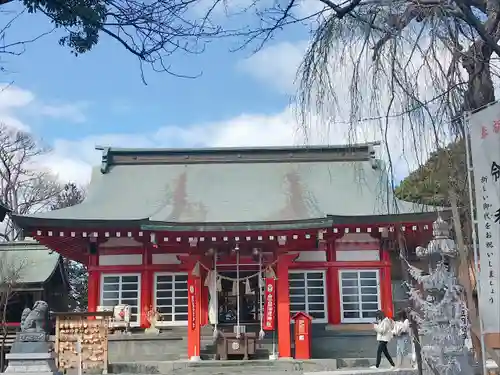
<svg viewBox="0 0 500 375">
<path fill-rule="evenodd" d="M 138 325 L 140 279 L 139 274 L 104 274 L 101 283 L 101 305 L 106 307 L 129 305 L 130 324 Z"/>
</svg>

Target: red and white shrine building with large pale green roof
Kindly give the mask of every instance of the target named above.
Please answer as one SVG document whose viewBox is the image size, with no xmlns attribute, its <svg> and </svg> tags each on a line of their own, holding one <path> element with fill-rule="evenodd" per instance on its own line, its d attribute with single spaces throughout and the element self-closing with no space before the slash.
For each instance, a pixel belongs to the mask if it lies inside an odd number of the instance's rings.
<svg viewBox="0 0 500 375">
<path fill-rule="evenodd" d="M 376 145 L 101 147 L 83 203 L 13 220 L 88 267 L 89 311 L 128 305 L 146 328 L 157 310 L 157 327 L 186 327 L 189 357 L 203 326 L 260 326 L 290 357 L 297 312 L 313 326 L 392 315 L 398 243 L 431 238 L 434 208 L 393 196 Z"/>
</svg>

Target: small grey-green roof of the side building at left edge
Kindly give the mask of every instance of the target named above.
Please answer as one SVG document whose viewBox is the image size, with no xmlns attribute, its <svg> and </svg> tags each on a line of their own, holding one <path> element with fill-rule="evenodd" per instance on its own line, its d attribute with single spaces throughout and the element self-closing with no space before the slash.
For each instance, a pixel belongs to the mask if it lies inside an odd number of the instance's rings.
<svg viewBox="0 0 500 375">
<path fill-rule="evenodd" d="M 16 284 L 44 283 L 57 269 L 59 256 L 36 241 L 0 243 L 0 283 L 13 278 Z"/>
</svg>

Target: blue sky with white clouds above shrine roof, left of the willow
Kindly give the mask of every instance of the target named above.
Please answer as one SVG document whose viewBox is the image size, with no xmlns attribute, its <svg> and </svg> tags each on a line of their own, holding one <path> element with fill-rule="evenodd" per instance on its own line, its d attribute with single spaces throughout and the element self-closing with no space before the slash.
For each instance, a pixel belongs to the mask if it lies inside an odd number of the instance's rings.
<svg viewBox="0 0 500 375">
<path fill-rule="evenodd" d="M 304 0 L 307 4 L 314 0 Z M 16 5 L 9 5 L 15 10 Z M 316 6 L 314 2 L 313 6 Z M 4 8 L 5 9 L 5 8 Z M 311 8 L 314 9 L 314 8 Z M 3 24 L 12 17 L 3 14 Z M 51 29 L 43 15 L 22 15 L 7 41 L 33 38 Z M 31 131 L 53 148 L 44 159 L 61 180 L 85 183 L 99 162 L 94 146 L 197 147 L 304 143 L 293 112 L 295 74 L 307 46 L 307 28 L 279 34 L 263 50 L 230 52 L 238 43 L 216 41 L 201 55 L 169 62 L 182 79 L 146 67 L 118 43 L 102 37 L 75 57 L 52 33 L 4 56 L 0 121 Z M 340 85 L 345 82 L 340 82 Z M 345 130 L 345 129 L 344 129 Z M 339 133 L 340 131 L 340 133 Z M 342 129 L 312 129 L 312 143 L 343 143 Z M 377 135 L 369 132 L 368 139 Z"/>
</svg>

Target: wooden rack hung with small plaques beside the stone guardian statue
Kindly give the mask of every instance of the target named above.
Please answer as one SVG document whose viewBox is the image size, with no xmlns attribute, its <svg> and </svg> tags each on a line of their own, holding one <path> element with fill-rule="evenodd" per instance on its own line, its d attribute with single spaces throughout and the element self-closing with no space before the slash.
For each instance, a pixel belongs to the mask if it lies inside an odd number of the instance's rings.
<svg viewBox="0 0 500 375">
<path fill-rule="evenodd" d="M 53 313 L 56 316 L 56 365 L 61 372 L 108 373 L 108 330 L 112 312 Z M 96 319 L 97 318 L 97 319 Z M 81 354 L 78 353 L 78 341 Z"/>
</svg>

